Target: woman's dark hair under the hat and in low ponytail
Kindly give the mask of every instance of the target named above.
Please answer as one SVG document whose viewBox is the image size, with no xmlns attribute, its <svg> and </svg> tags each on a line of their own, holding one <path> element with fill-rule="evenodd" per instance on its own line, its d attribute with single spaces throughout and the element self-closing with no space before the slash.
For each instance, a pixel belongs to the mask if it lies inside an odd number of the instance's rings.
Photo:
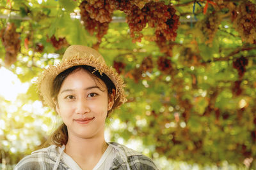
<svg viewBox="0 0 256 170">
<path fill-rule="evenodd" d="M 52 83 L 52 89 L 51 89 L 51 97 L 54 97 L 54 99 L 57 100 L 57 96 L 60 92 L 60 88 L 61 85 L 63 83 L 63 81 L 65 80 L 65 78 L 67 78 L 67 76 L 71 73 L 73 73 L 74 71 L 78 71 L 79 69 L 83 69 L 84 71 L 87 71 L 88 73 L 90 73 L 90 76 L 92 76 L 93 80 L 95 81 L 99 81 L 102 80 L 107 89 L 108 89 L 108 97 L 110 94 L 112 94 L 112 89 L 115 89 L 115 85 L 113 83 L 113 81 L 111 81 L 109 79 L 109 77 L 102 73 L 102 75 L 100 75 L 99 71 L 95 71 L 95 67 L 92 66 L 74 66 L 74 67 L 70 67 L 68 69 L 66 69 L 65 71 L 61 72 L 60 74 L 58 74 L 58 76 L 56 76 L 56 78 L 54 79 L 53 83 Z M 98 79 L 99 78 L 99 79 Z M 112 109 L 108 111 L 108 115 L 109 113 L 111 113 Z M 108 116 L 107 116 L 108 117 Z M 68 131 L 67 131 L 67 125 L 65 125 L 64 123 L 62 123 L 60 125 L 60 127 L 58 127 L 52 134 L 51 136 L 47 139 L 47 141 L 44 143 L 44 145 L 42 145 L 42 147 L 46 147 L 49 145 L 57 145 L 57 146 L 61 146 L 61 145 L 66 145 L 68 141 Z"/>
</svg>

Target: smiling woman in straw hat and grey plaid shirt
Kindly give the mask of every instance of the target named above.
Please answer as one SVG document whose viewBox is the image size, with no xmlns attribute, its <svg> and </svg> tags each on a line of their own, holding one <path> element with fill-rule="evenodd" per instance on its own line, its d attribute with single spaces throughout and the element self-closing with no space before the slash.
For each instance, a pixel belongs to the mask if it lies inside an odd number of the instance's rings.
<svg viewBox="0 0 256 170">
<path fill-rule="evenodd" d="M 38 78 L 45 104 L 63 124 L 47 148 L 20 160 L 15 169 L 157 169 L 154 162 L 118 143 L 106 143 L 106 117 L 125 103 L 124 81 L 92 48 L 69 46 L 61 63 Z"/>
</svg>

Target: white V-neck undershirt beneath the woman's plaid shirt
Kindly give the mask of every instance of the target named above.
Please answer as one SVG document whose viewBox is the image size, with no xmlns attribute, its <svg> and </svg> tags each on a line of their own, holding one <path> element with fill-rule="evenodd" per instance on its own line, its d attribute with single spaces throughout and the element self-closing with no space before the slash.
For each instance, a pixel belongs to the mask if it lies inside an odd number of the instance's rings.
<svg viewBox="0 0 256 170">
<path fill-rule="evenodd" d="M 60 152 L 61 148 L 58 147 L 58 152 Z M 103 169 L 110 169 L 113 159 L 115 157 L 114 148 L 108 145 L 108 148 L 103 153 L 102 157 L 100 158 L 99 162 L 93 167 L 93 170 L 103 170 Z M 72 170 L 82 170 L 81 167 L 70 157 L 67 153 L 62 153 L 62 159 L 67 164 L 68 167 Z"/>
</svg>

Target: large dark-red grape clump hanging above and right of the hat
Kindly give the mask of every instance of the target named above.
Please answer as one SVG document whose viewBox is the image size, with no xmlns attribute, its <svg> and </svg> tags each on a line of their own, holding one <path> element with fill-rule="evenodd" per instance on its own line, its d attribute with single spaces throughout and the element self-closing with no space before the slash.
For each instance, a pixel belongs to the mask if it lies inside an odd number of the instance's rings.
<svg viewBox="0 0 256 170">
<path fill-rule="evenodd" d="M 142 9 L 132 6 L 131 14 L 127 16 L 127 23 L 133 41 L 141 40 L 143 37 L 141 31 L 147 24 L 155 28 L 155 38 L 152 40 L 163 36 L 166 40 L 174 41 L 180 24 L 179 16 L 175 15 L 175 9 L 163 2 L 150 2 Z"/>
</svg>

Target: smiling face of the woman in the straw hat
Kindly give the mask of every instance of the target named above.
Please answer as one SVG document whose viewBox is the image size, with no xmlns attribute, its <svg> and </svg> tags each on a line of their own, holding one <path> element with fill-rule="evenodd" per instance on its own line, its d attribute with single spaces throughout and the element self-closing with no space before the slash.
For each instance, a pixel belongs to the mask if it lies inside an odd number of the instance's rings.
<svg viewBox="0 0 256 170">
<path fill-rule="evenodd" d="M 63 81 L 56 111 L 67 125 L 69 138 L 93 138 L 104 134 L 107 113 L 114 102 L 113 94 L 108 99 L 108 89 L 102 80 L 99 81 L 101 83 L 96 81 L 96 84 L 83 69 L 75 70 Z"/>
</svg>

